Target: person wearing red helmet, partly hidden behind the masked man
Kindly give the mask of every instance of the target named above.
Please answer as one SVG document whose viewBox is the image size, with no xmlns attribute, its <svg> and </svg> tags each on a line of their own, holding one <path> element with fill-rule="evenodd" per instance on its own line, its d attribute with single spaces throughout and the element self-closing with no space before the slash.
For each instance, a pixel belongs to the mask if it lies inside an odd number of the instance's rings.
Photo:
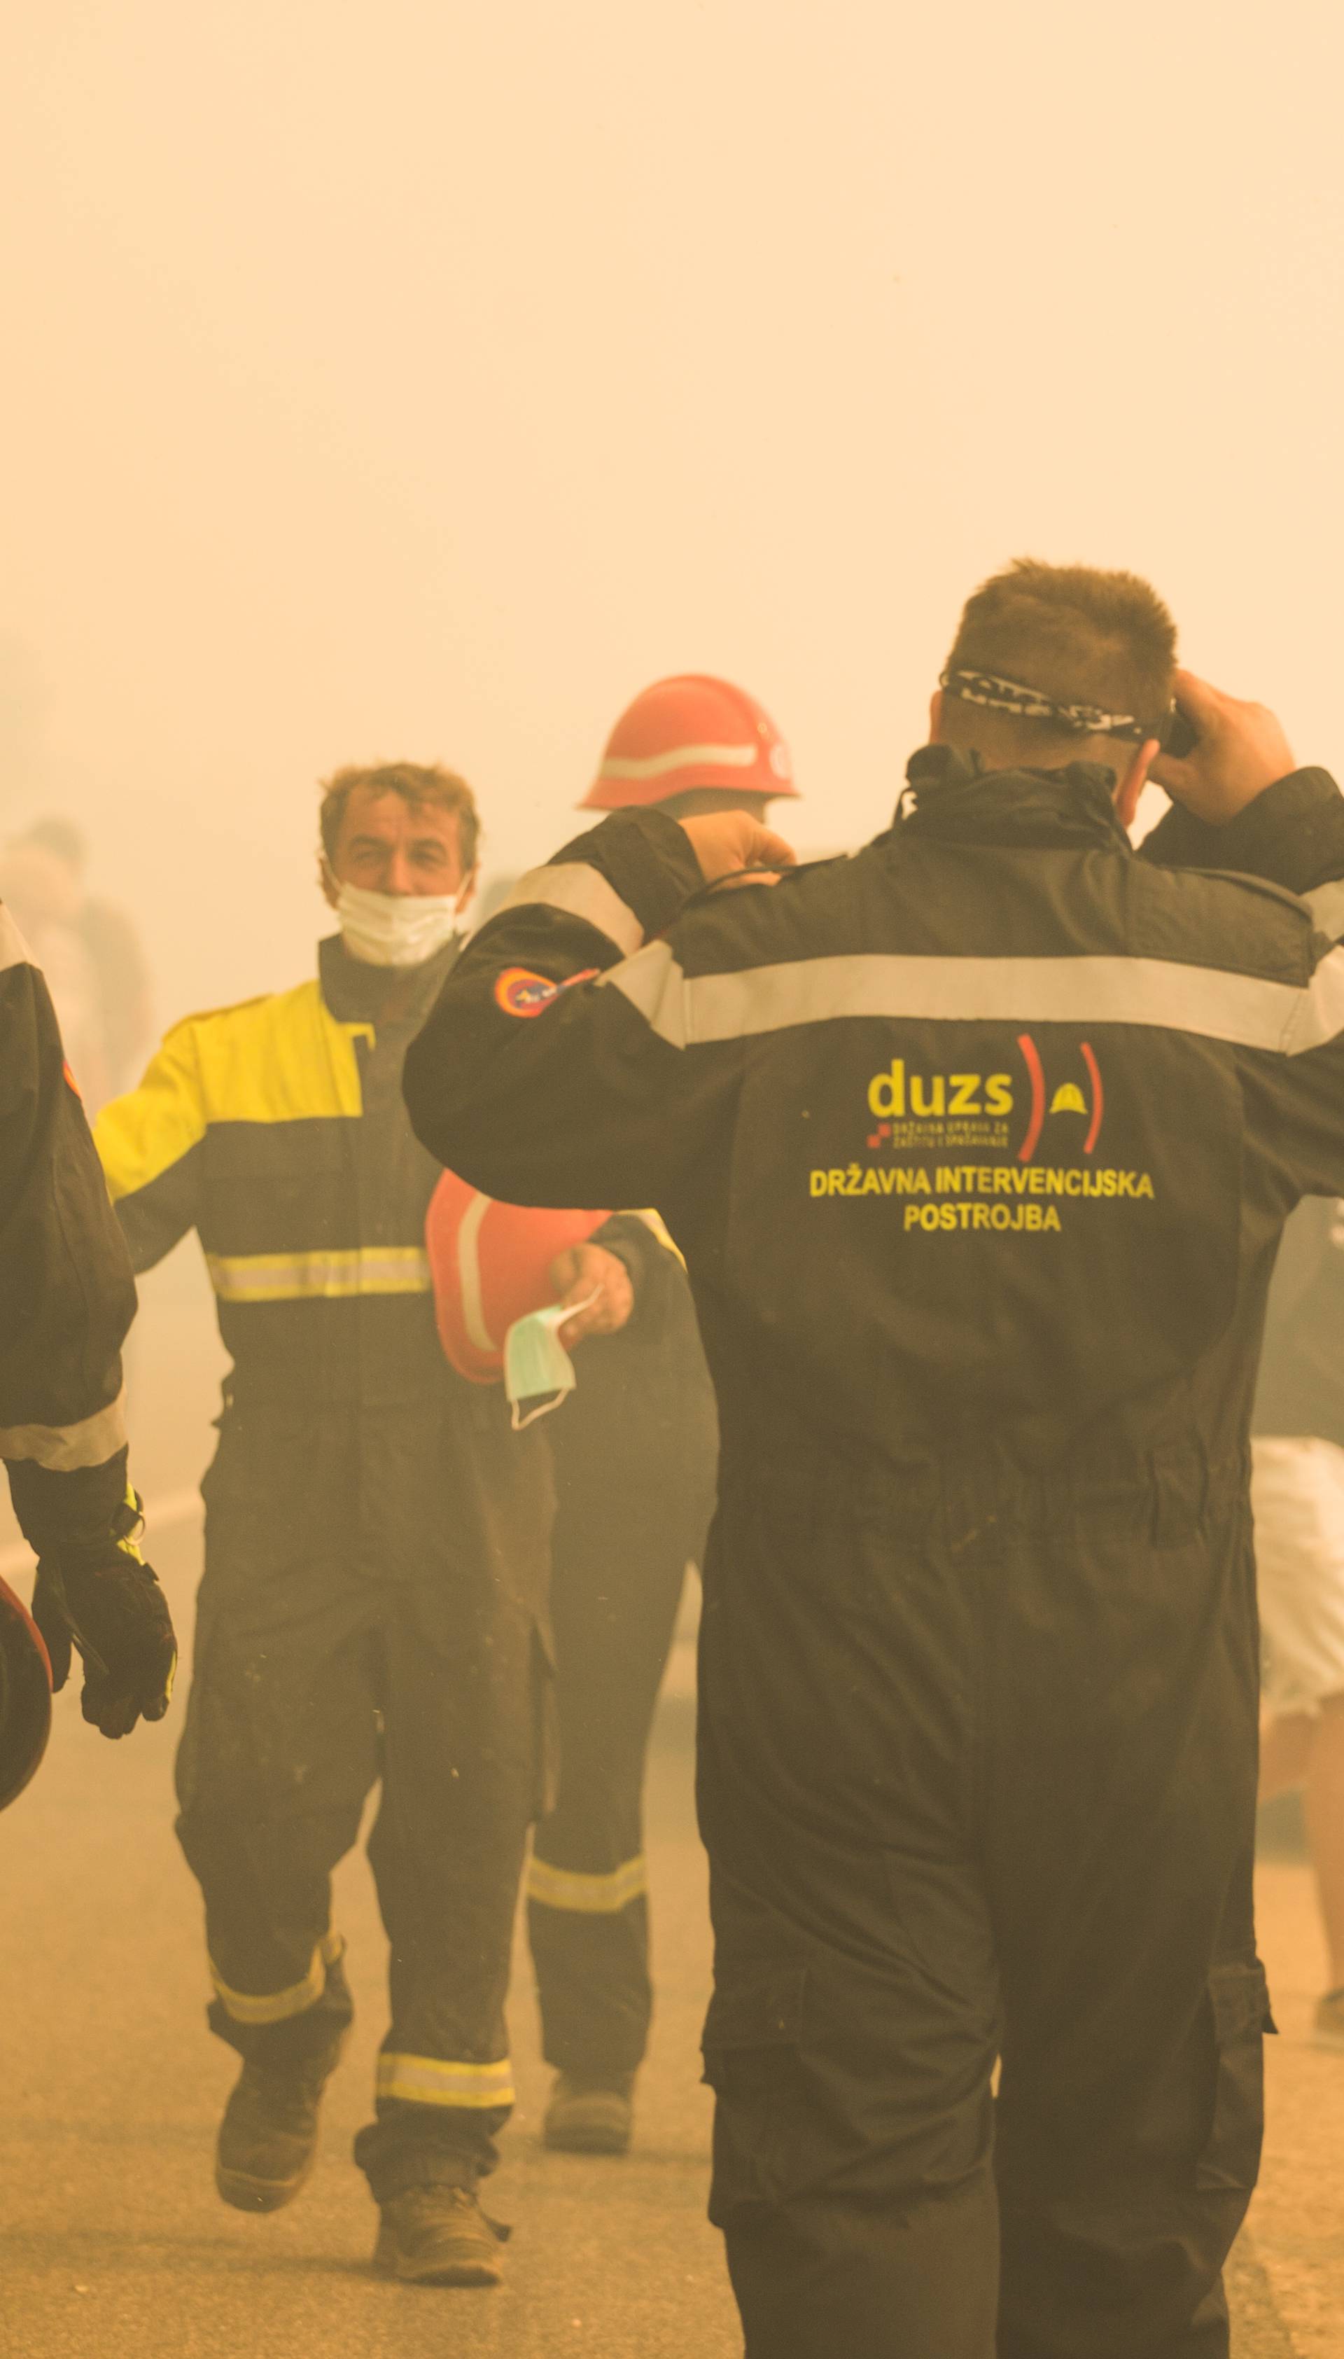
<svg viewBox="0 0 1344 2359">
<path fill-rule="evenodd" d="M 797 788 L 769 715 L 731 682 L 691 672 L 627 705 L 582 807 L 764 819 L 776 795 Z M 561 1757 L 526 1878 L 542 2045 L 556 2066 L 545 2137 L 599 2154 L 630 2144 L 648 2043 L 644 1760 L 719 1456 L 684 1267 L 648 1229 L 622 1234 L 639 1253 L 634 1316 L 582 1354 L 573 1397 L 547 1422 Z"/>
</svg>

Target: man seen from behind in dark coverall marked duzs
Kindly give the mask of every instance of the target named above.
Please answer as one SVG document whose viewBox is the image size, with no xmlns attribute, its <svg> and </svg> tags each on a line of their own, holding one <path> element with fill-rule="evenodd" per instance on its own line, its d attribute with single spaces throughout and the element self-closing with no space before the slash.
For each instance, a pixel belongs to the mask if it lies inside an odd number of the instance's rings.
<svg viewBox="0 0 1344 2359">
<path fill-rule="evenodd" d="M 1212 2359 L 1266 2029 L 1254 1354 L 1344 1180 L 1344 953 L 1250 873 L 1344 873 L 1344 804 L 1132 576 L 1014 569 L 943 677 L 856 859 L 705 896 L 778 837 L 568 845 L 406 1095 L 476 1187 L 646 1201 L 686 1253 L 750 2359 Z M 1188 809 L 1137 859 L 1174 682 Z"/>
</svg>

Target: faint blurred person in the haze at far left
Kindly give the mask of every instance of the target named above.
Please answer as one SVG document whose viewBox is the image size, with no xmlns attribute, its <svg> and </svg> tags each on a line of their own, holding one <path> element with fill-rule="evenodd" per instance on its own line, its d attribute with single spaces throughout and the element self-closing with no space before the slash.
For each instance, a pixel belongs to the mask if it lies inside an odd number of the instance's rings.
<svg viewBox="0 0 1344 2359">
<path fill-rule="evenodd" d="M 38 819 L 0 861 L 0 894 L 42 946 L 66 1052 L 92 1113 L 125 1090 L 151 1038 L 149 965 L 132 920 L 87 892 L 87 842 Z"/>
</svg>

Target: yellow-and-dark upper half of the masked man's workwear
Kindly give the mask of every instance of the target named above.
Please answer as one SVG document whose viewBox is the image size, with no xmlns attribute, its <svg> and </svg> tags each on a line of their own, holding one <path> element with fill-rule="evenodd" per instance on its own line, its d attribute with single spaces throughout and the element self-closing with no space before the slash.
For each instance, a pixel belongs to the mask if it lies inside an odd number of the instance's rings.
<svg viewBox="0 0 1344 2359">
<path fill-rule="evenodd" d="M 450 960 L 375 1024 L 380 970 L 323 944 L 321 979 L 186 1017 L 99 1113 L 134 1267 L 200 1236 L 238 1399 L 413 1401 L 446 1385 L 424 1257 L 439 1165 L 401 1109 L 401 1059 Z"/>
</svg>

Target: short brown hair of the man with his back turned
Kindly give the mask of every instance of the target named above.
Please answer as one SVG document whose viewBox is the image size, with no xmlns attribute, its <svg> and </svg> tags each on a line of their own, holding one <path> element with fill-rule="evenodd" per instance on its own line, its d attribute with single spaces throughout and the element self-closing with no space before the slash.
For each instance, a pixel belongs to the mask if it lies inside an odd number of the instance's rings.
<svg viewBox="0 0 1344 2359">
<path fill-rule="evenodd" d="M 1139 573 L 1016 557 L 967 599 L 946 670 L 990 672 L 1059 705 L 1129 712 L 1160 736 L 1172 708 L 1177 625 Z M 955 710 L 950 705 L 948 717 Z M 976 712 L 976 722 L 993 741 L 1007 736 L 1023 745 L 1061 745 L 1070 736 L 1054 722 L 1009 712 Z M 969 719 L 955 724 L 955 734 L 969 736 Z"/>
</svg>

